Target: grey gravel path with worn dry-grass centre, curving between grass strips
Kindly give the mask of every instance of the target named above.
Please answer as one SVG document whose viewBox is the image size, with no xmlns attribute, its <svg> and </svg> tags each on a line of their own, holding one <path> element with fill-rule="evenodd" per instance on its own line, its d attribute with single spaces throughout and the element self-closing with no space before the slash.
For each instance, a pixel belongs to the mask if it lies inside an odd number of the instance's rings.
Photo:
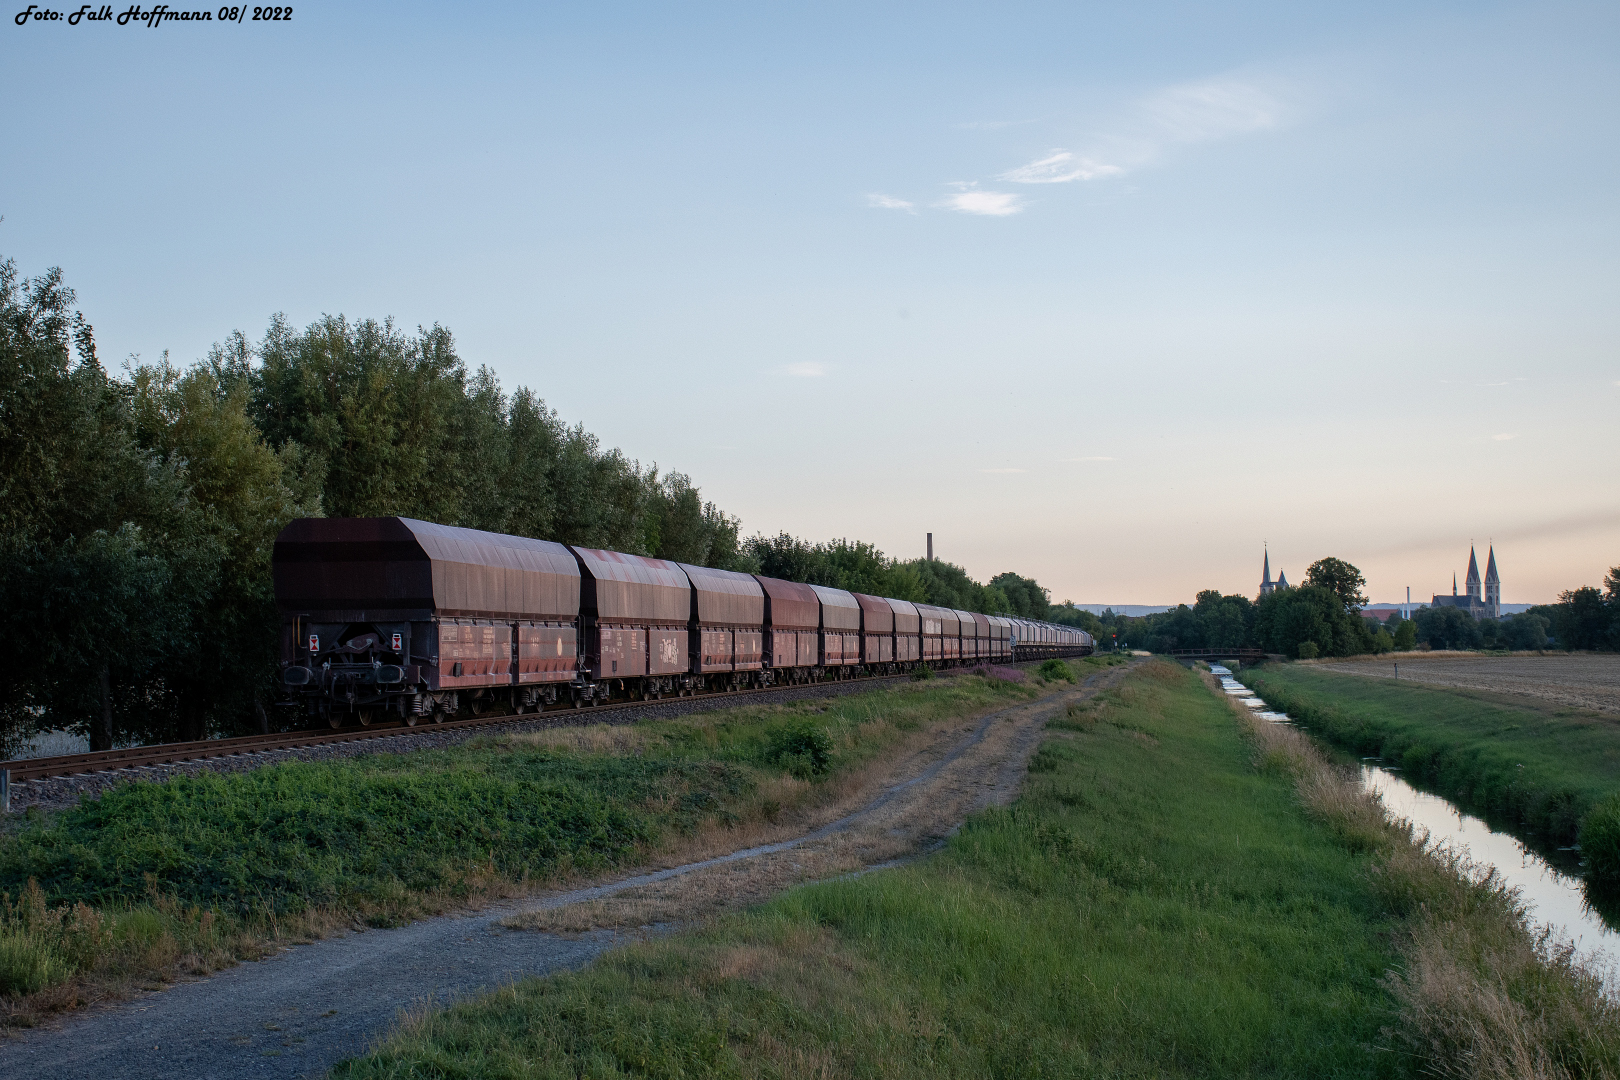
<svg viewBox="0 0 1620 1080">
<path fill-rule="evenodd" d="M 1111 683 L 1123 672 L 1115 669 L 1087 682 Z M 804 836 L 538 900 L 295 946 L 207 980 L 21 1033 L 0 1046 L 0 1080 L 322 1075 L 343 1057 L 364 1052 L 405 1009 L 442 1004 L 528 975 L 575 970 L 604 949 L 667 926 L 573 934 L 520 929 L 536 912 L 599 904 L 688 874 L 700 879 L 705 873 L 731 873 L 797 850 L 807 852 L 810 861 L 816 845 L 842 837 L 849 837 L 850 850 L 867 853 L 868 868 L 896 861 L 896 844 L 910 844 L 912 853 L 925 850 L 920 840 L 948 832 L 974 808 L 1009 800 L 1047 719 L 1087 693 L 1092 690 L 1071 690 L 951 730 L 943 745 L 899 763 L 899 779 L 865 805 Z M 944 821 L 941 810 L 953 821 Z M 896 842 L 893 837 L 901 834 L 909 839 Z M 886 839 L 872 847 L 872 837 Z M 755 884 L 774 891 L 792 881 L 763 874 Z"/>
</svg>

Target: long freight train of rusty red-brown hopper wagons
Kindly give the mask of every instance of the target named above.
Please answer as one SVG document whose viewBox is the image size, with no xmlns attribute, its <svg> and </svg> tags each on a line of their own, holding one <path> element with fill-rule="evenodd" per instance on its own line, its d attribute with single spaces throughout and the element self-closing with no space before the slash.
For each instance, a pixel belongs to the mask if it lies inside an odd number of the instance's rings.
<svg viewBox="0 0 1620 1080">
<path fill-rule="evenodd" d="M 1072 627 L 411 518 L 275 538 L 284 704 L 332 727 L 1087 656 Z"/>
</svg>

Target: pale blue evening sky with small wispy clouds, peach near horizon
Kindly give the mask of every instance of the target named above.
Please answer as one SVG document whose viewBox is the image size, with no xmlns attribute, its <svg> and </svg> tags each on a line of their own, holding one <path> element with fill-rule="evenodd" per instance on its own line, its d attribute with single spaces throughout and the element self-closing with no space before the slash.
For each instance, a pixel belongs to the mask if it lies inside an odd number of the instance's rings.
<svg viewBox="0 0 1620 1080">
<path fill-rule="evenodd" d="M 1614 3 L 45 10 L 0 256 L 112 366 L 437 322 L 745 533 L 1056 601 L 1620 563 Z"/>
</svg>

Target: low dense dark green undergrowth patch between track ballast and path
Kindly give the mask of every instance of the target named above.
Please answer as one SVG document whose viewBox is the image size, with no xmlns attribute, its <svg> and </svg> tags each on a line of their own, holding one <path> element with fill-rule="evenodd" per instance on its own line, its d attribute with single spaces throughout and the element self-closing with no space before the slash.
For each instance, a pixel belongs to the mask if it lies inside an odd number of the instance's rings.
<svg viewBox="0 0 1620 1080">
<path fill-rule="evenodd" d="M 690 814 L 723 806 L 735 769 L 580 761 L 548 750 L 366 756 L 168 784 L 131 784 L 0 848 L 0 882 L 29 878 L 58 902 L 157 889 L 217 908 L 301 910 L 389 889 L 454 887 L 622 861 L 659 824 L 654 797 Z"/>
</svg>

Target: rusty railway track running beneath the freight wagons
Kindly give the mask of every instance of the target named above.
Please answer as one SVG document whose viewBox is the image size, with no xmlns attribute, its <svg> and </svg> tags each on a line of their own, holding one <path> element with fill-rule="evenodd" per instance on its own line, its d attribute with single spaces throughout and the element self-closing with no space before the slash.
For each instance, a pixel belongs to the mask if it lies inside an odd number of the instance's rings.
<svg viewBox="0 0 1620 1080">
<path fill-rule="evenodd" d="M 677 704 L 682 701 L 734 701 L 758 695 L 778 695 L 813 687 L 838 687 L 844 683 L 883 682 L 886 678 L 904 678 L 904 675 L 862 675 L 857 678 L 826 680 L 820 683 L 791 683 L 787 687 L 765 687 L 758 690 L 710 691 L 692 698 L 614 701 L 611 704 L 598 704 L 583 709 L 552 706 L 536 712 L 475 716 L 463 721 L 444 721 L 439 724 L 405 724 L 402 721 L 395 721 L 389 724 L 371 724 L 368 727 L 343 727 L 329 732 L 282 732 L 271 735 L 240 735 L 237 738 L 204 738 L 190 743 L 156 743 L 152 746 L 97 750 L 83 755 L 62 755 L 57 758 L 21 758 L 18 761 L 0 761 L 0 769 L 5 771 L 8 784 L 19 784 L 23 780 L 44 780 L 58 776 L 117 772 L 118 769 L 141 769 L 157 764 L 201 761 L 204 758 L 232 758 L 237 755 L 266 753 L 271 750 L 296 750 L 300 746 L 319 746 L 322 743 L 348 743 L 364 738 L 389 738 L 394 735 L 429 735 L 468 727 L 497 727 L 501 724 L 535 721 L 541 716 L 601 716 L 608 712 L 620 712 L 624 709 L 645 709 L 650 706 Z"/>
</svg>

